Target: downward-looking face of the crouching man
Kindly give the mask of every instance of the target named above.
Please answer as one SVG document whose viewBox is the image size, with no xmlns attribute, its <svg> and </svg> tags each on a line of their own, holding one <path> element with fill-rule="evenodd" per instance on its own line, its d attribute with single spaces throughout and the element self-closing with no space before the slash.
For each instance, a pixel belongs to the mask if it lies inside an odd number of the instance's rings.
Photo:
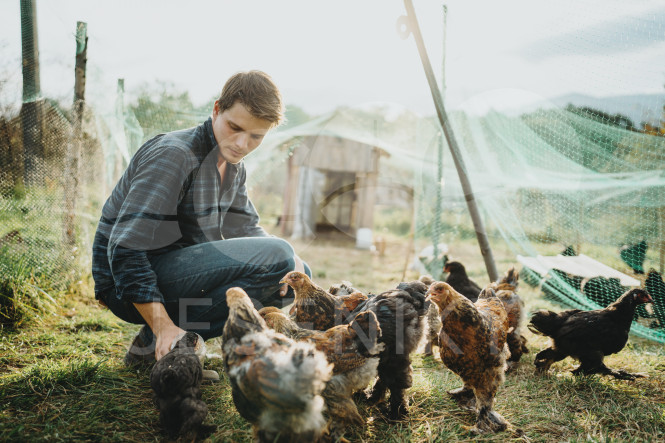
<svg viewBox="0 0 665 443">
<path fill-rule="evenodd" d="M 212 111 L 212 131 L 223 160 L 239 163 L 247 154 L 259 147 L 272 123 L 254 117 L 240 102 L 219 112 L 217 102 Z"/>
</svg>

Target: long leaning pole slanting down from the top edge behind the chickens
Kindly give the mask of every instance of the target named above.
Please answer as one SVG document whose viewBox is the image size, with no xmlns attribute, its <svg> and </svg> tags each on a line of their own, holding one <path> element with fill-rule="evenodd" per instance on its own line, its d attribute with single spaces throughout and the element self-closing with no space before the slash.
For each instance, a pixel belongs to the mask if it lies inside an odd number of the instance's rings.
<svg viewBox="0 0 665 443">
<path fill-rule="evenodd" d="M 462 159 L 459 145 L 457 144 L 452 125 L 450 124 L 448 115 L 446 114 L 446 110 L 443 106 L 443 99 L 441 98 L 441 93 L 436 84 L 436 77 L 434 76 L 432 65 L 430 64 L 429 57 L 427 56 L 427 49 L 425 48 L 425 43 L 423 42 L 423 37 L 420 33 L 420 27 L 418 26 L 418 19 L 416 18 L 416 12 L 413 8 L 413 3 L 411 0 L 404 0 L 404 6 L 406 7 L 407 11 L 408 30 L 413 34 L 413 38 L 416 41 L 416 46 L 418 47 L 420 60 L 423 63 L 425 75 L 427 76 L 427 81 L 432 93 L 432 99 L 434 99 L 436 113 L 439 117 L 439 123 L 441 124 L 441 128 L 443 128 L 443 133 L 446 136 L 448 147 L 450 148 L 453 161 L 455 162 L 455 168 L 457 169 L 457 174 L 459 175 L 460 182 L 462 184 L 462 190 L 464 191 L 466 204 L 469 208 L 469 214 L 471 215 L 471 220 L 473 221 L 473 226 L 476 230 L 478 246 L 480 246 L 480 252 L 483 256 L 483 259 L 485 260 L 487 274 L 489 275 L 491 281 L 496 281 L 498 279 L 498 273 L 496 271 L 494 257 L 492 256 L 492 248 L 490 247 L 487 232 L 485 231 L 485 226 L 480 216 L 480 212 L 478 211 L 476 199 L 473 195 L 473 190 L 471 189 L 471 182 L 469 182 L 469 178 L 466 175 L 466 167 L 464 165 L 464 160 Z"/>
</svg>

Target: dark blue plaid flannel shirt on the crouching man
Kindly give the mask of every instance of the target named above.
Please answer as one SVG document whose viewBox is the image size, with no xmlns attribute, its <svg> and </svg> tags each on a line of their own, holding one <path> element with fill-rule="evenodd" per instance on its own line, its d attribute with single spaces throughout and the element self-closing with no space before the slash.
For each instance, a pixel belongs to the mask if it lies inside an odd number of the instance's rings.
<svg viewBox="0 0 665 443">
<path fill-rule="evenodd" d="M 148 140 L 104 204 L 93 243 L 95 297 L 163 302 L 149 257 L 199 243 L 265 237 L 244 164 L 217 169 L 212 119 Z"/>
</svg>

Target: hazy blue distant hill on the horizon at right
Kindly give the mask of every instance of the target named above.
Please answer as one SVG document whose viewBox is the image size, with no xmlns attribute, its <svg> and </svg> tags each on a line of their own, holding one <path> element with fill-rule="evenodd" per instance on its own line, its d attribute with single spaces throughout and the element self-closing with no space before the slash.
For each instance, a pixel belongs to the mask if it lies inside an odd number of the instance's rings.
<svg viewBox="0 0 665 443">
<path fill-rule="evenodd" d="M 630 118 L 635 126 L 640 126 L 642 122 L 656 123 L 663 118 L 665 93 L 619 95 L 613 97 L 568 94 L 552 99 L 549 102 L 559 108 L 565 108 L 568 104 L 572 104 L 578 107 L 588 106 L 607 112 L 608 114 L 623 114 Z"/>
</svg>

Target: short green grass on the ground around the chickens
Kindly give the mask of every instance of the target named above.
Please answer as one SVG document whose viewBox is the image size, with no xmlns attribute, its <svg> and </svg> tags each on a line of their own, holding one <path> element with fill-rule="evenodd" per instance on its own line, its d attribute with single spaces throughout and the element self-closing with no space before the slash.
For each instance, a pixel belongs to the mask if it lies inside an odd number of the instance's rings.
<svg viewBox="0 0 665 443">
<path fill-rule="evenodd" d="M 342 279 L 368 291 L 381 291 L 417 275 L 407 269 L 409 246 L 389 238 L 385 256 L 353 248 L 349 238 L 320 237 L 294 247 L 310 264 L 321 286 Z M 449 245 L 469 273 L 484 283 L 482 260 L 472 242 Z M 494 243 L 493 243 L 494 246 Z M 494 246 L 501 271 L 517 265 L 507 247 Z M 93 300 L 89 280 L 57 298 L 57 315 L 0 334 L 0 441 L 163 441 L 152 405 L 149 372 L 131 371 L 122 358 L 137 325 L 116 319 Z M 560 309 L 527 285 L 520 287 L 527 310 Z M 519 432 L 475 437 L 467 430 L 473 414 L 460 410 L 446 391 L 460 379 L 438 357 L 414 358 L 408 420 L 389 424 L 380 409 L 360 405 L 364 429 L 346 437 L 365 442 L 434 441 L 663 441 L 665 440 L 665 350 L 662 344 L 631 337 L 610 356 L 610 367 L 643 372 L 634 382 L 607 377 L 573 377 L 566 359 L 548 376 L 534 375 L 533 355 L 546 346 L 526 332 L 531 354 L 508 374 L 496 409 Z M 219 353 L 219 342 L 208 342 Z M 251 430 L 238 415 L 220 360 L 206 361 L 222 380 L 205 385 L 208 423 L 217 425 L 213 442 L 249 442 Z"/>
</svg>

